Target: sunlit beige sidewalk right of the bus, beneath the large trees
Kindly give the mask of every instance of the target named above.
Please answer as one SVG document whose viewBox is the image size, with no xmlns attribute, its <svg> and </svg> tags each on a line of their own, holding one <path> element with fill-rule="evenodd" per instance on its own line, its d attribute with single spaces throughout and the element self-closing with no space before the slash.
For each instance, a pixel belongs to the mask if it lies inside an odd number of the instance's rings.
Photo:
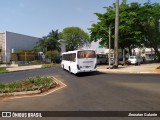
<svg viewBox="0 0 160 120">
<path fill-rule="evenodd" d="M 159 63 L 141 64 L 140 66 L 119 65 L 118 69 L 107 69 L 109 67 L 108 65 L 99 65 L 97 66 L 97 70 L 105 73 L 160 74 L 160 70 L 156 70 L 158 66 L 160 66 Z"/>
</svg>

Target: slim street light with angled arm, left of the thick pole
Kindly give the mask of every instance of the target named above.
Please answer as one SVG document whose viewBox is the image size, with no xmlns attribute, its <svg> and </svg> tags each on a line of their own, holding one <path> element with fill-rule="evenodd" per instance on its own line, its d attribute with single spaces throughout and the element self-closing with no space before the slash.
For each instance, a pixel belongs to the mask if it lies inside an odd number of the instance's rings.
<svg viewBox="0 0 160 120">
<path fill-rule="evenodd" d="M 90 22 L 94 22 L 94 21 L 90 21 Z M 99 24 L 98 24 L 99 25 Z M 102 27 L 101 25 L 99 25 L 101 28 L 103 28 L 104 31 L 106 31 L 106 29 L 104 29 L 104 27 Z M 109 34 L 109 69 L 111 66 L 111 28 L 108 28 L 109 31 L 106 31 Z"/>
</svg>

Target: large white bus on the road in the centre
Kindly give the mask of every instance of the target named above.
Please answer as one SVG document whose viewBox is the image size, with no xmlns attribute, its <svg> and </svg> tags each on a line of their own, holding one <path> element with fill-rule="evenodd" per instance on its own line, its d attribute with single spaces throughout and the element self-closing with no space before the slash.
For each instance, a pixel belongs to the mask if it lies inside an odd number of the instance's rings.
<svg viewBox="0 0 160 120">
<path fill-rule="evenodd" d="M 94 50 L 75 50 L 62 53 L 62 68 L 74 74 L 96 71 L 96 63 Z"/>
</svg>

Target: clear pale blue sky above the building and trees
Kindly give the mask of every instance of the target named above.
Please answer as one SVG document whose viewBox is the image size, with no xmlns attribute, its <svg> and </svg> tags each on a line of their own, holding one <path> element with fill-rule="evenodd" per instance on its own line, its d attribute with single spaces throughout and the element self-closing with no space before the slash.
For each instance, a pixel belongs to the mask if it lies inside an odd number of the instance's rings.
<svg viewBox="0 0 160 120">
<path fill-rule="evenodd" d="M 97 21 L 94 13 L 104 13 L 105 6 L 116 0 L 1 0 L 0 32 L 10 31 L 43 37 L 53 30 L 80 27 L 89 33 L 90 21 Z M 120 0 L 121 3 L 122 0 Z M 127 3 L 148 0 L 128 0 Z M 159 0 L 150 0 L 151 3 Z"/>
</svg>

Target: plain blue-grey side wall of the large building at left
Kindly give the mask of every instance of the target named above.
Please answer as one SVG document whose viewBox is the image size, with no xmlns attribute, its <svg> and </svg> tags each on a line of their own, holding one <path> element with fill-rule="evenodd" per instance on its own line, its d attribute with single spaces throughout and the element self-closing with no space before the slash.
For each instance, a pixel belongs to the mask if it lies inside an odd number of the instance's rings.
<svg viewBox="0 0 160 120">
<path fill-rule="evenodd" d="M 32 50 L 39 41 L 36 37 L 6 32 L 6 62 L 10 62 L 11 50 Z"/>
</svg>

